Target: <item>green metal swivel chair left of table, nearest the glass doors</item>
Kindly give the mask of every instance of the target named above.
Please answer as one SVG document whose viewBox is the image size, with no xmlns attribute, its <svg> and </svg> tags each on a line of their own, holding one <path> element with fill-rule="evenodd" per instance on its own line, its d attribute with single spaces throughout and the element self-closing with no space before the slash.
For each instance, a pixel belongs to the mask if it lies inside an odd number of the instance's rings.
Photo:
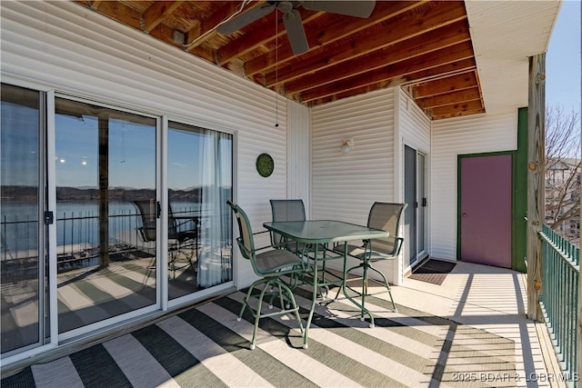
<svg viewBox="0 0 582 388">
<path fill-rule="evenodd" d="M 299 316 L 299 307 L 296 304 L 291 288 L 289 288 L 289 286 L 282 280 L 283 276 L 295 278 L 297 274 L 301 274 L 305 271 L 301 258 L 299 258 L 296 254 L 283 249 L 271 249 L 257 254 L 258 251 L 272 248 L 271 245 L 261 248 L 255 247 L 254 236 L 256 234 L 267 233 L 267 231 L 253 234 L 248 217 L 246 216 L 246 213 L 243 211 L 243 209 L 230 201 L 227 201 L 226 204 L 232 208 L 236 215 L 239 234 L 239 237 L 236 239 L 236 243 L 238 244 L 240 253 L 243 255 L 243 257 L 251 262 L 255 274 L 261 277 L 248 288 L 248 292 L 246 293 L 246 297 L 243 302 L 243 307 L 241 308 L 237 318 L 238 321 L 241 320 L 247 306 L 255 317 L 255 329 L 253 331 L 253 339 L 251 341 L 250 349 L 253 350 L 256 346 L 256 332 L 258 330 L 259 320 L 268 316 L 295 313 L 297 323 L 299 323 L 301 333 L 303 334 L 304 329 L 303 323 L 301 322 L 301 317 Z M 249 304 L 249 299 L 251 298 L 255 287 L 260 288 L 261 286 L 262 288 L 258 295 L 258 304 L 256 310 L 253 310 Z M 284 301 L 284 295 L 286 297 L 287 303 Z M 262 313 L 263 300 L 266 296 L 270 297 L 269 309 L 273 308 L 272 302 L 276 297 L 278 297 L 281 310 L 270 313 Z"/>
</svg>

